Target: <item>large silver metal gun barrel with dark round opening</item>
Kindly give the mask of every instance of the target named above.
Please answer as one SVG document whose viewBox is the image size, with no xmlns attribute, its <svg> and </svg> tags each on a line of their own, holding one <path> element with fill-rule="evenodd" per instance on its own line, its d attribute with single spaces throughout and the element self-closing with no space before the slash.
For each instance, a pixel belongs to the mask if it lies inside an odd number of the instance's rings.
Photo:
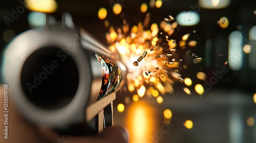
<svg viewBox="0 0 256 143">
<path fill-rule="evenodd" d="M 88 134 L 112 125 L 112 101 L 125 72 L 119 65 L 88 32 L 54 26 L 9 43 L 3 77 L 31 122 Z"/>
</svg>

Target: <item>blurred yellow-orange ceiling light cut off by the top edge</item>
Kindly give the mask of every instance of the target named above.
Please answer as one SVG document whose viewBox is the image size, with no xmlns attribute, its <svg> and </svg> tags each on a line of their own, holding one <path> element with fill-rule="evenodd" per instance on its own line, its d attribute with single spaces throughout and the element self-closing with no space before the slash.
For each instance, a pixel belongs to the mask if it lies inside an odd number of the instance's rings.
<svg viewBox="0 0 256 143">
<path fill-rule="evenodd" d="M 31 11 L 52 13 L 57 10 L 57 3 L 54 0 L 25 0 L 27 8 Z"/>
</svg>

